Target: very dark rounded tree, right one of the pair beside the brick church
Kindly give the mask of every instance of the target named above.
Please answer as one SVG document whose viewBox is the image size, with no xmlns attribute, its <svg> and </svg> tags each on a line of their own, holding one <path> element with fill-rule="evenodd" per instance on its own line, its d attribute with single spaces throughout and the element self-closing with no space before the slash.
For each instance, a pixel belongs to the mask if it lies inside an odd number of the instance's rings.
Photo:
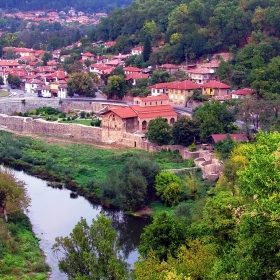
<svg viewBox="0 0 280 280">
<path fill-rule="evenodd" d="M 183 116 L 172 126 L 172 136 L 176 144 L 189 146 L 199 137 L 199 122 Z"/>
</svg>

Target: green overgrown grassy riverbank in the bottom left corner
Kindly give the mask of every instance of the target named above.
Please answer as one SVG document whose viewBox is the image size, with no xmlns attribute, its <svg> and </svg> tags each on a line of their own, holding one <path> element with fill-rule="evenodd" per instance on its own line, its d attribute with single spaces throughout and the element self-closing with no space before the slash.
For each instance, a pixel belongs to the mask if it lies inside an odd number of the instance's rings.
<svg viewBox="0 0 280 280">
<path fill-rule="evenodd" d="M 0 218 L 0 279 L 45 280 L 48 271 L 28 217 L 13 214 L 8 223 Z"/>
</svg>

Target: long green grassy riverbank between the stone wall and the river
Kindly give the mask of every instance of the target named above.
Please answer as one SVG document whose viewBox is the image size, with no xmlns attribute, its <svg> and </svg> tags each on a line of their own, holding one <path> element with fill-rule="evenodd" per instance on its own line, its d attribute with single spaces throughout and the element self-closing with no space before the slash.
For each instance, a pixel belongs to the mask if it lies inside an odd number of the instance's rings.
<svg viewBox="0 0 280 280">
<path fill-rule="evenodd" d="M 93 202 L 107 204 L 98 184 L 114 169 L 119 172 L 132 157 L 145 157 L 161 169 L 193 166 L 177 151 L 148 153 L 136 149 L 104 149 L 78 143 L 46 143 L 30 137 L 0 131 L 0 160 L 13 168 L 23 169 L 48 181 L 62 181 Z"/>
</svg>

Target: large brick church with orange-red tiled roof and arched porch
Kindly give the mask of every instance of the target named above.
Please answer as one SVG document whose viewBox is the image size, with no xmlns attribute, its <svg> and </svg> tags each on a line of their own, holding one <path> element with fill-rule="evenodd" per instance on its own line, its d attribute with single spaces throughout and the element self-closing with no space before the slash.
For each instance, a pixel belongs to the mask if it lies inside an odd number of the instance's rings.
<svg viewBox="0 0 280 280">
<path fill-rule="evenodd" d="M 102 139 L 107 142 L 120 141 L 125 133 L 145 133 L 148 123 L 157 117 L 163 117 L 171 125 L 177 120 L 167 96 L 136 97 L 134 105 L 110 108 L 102 115 Z"/>
</svg>

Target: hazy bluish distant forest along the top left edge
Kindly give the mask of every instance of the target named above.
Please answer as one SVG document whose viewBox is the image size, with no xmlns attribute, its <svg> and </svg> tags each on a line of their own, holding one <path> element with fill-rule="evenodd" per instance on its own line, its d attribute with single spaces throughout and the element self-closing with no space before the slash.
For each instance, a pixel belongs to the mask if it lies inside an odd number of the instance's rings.
<svg viewBox="0 0 280 280">
<path fill-rule="evenodd" d="M 131 0 L 60 0 L 60 1 L 43 1 L 43 0 L 7 0 L 0 3 L 2 9 L 18 9 L 20 11 L 36 10 L 57 10 L 68 11 L 74 8 L 77 11 L 91 13 L 110 12 L 117 7 L 127 6 Z"/>
</svg>

